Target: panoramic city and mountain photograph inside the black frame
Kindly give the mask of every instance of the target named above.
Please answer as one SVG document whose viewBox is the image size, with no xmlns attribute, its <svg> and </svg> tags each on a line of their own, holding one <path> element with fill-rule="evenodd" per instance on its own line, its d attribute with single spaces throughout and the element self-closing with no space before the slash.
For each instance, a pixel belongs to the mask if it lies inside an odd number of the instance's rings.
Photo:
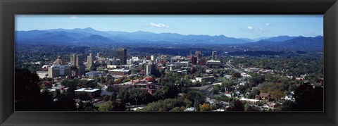
<svg viewBox="0 0 338 126">
<path fill-rule="evenodd" d="M 325 111 L 323 14 L 14 21 L 15 111 Z"/>
</svg>

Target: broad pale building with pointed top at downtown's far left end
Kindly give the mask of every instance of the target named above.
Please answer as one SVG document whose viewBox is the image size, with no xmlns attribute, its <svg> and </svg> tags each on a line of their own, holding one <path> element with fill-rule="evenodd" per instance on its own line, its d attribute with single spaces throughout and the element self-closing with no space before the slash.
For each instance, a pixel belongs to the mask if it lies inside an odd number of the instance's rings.
<svg viewBox="0 0 338 126">
<path fill-rule="evenodd" d="M 53 65 L 48 68 L 48 76 L 49 77 L 65 77 L 71 75 L 71 70 L 68 65 L 65 65 L 61 59 L 61 56 L 58 56 L 56 61 L 54 61 Z"/>
</svg>

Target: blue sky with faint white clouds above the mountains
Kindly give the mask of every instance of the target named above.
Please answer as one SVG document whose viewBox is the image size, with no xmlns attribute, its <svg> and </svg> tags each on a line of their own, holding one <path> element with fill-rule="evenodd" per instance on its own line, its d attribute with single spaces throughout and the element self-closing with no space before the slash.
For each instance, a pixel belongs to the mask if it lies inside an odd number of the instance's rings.
<svg viewBox="0 0 338 126">
<path fill-rule="evenodd" d="M 15 15 L 15 30 L 92 27 L 101 31 L 172 32 L 227 37 L 315 37 L 323 15 Z"/>
</svg>

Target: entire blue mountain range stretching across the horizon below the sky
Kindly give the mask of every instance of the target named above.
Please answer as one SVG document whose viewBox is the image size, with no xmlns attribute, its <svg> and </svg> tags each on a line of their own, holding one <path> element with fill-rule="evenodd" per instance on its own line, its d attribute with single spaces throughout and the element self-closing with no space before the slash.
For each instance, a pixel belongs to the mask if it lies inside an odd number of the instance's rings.
<svg viewBox="0 0 338 126">
<path fill-rule="evenodd" d="M 234 38 L 224 35 L 183 35 L 177 33 L 99 31 L 91 27 L 72 30 L 15 31 L 15 42 L 32 44 L 70 44 L 80 46 L 106 46 L 116 44 L 245 44 L 267 46 L 302 46 L 323 48 L 323 37 L 261 37 Z"/>
</svg>

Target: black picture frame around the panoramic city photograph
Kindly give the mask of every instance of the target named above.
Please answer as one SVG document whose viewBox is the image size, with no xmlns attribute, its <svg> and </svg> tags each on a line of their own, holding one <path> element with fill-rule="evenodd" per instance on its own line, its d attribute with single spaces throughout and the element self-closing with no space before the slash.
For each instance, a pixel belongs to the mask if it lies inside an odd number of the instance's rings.
<svg viewBox="0 0 338 126">
<path fill-rule="evenodd" d="M 0 0 L 1 125 L 337 125 L 337 0 Z M 15 112 L 15 14 L 323 14 L 324 112 Z"/>
</svg>

